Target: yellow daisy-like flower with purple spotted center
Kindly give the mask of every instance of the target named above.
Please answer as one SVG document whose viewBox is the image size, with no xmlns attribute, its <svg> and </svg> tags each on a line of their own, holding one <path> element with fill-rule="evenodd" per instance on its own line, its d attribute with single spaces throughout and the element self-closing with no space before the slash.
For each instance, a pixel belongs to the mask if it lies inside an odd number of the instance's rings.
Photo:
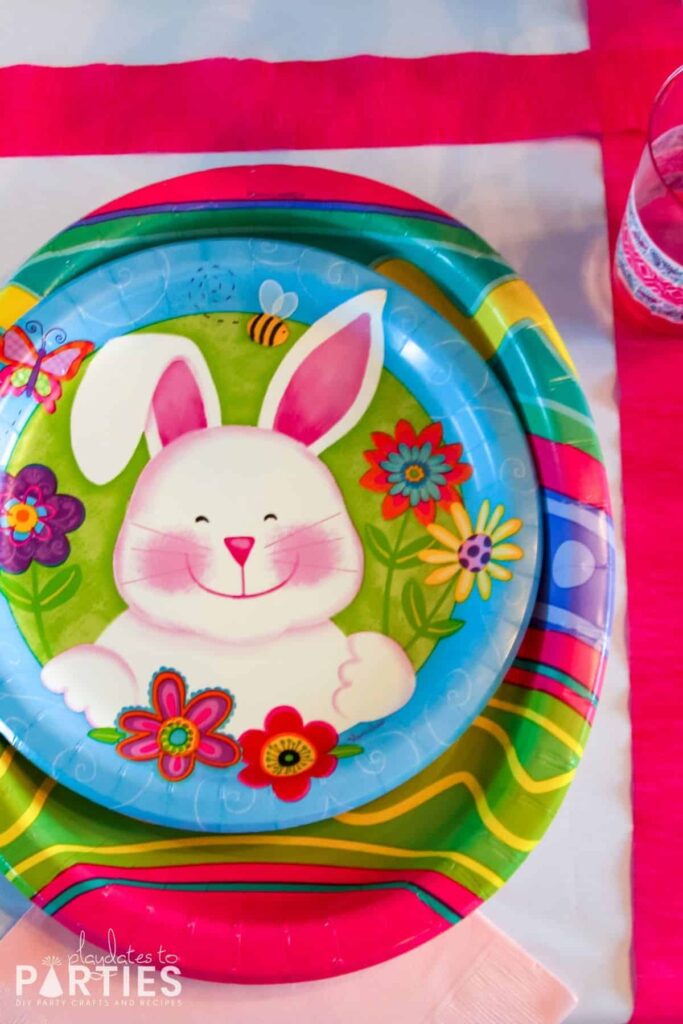
<svg viewBox="0 0 683 1024">
<path fill-rule="evenodd" d="M 451 517 L 456 527 L 455 532 L 438 523 L 427 526 L 434 540 L 442 544 L 445 550 L 426 548 L 419 553 L 423 562 L 439 566 L 430 572 L 425 583 L 437 587 L 449 580 L 455 580 L 454 599 L 456 603 L 461 603 L 472 593 L 476 580 L 479 594 L 487 601 L 490 597 L 492 580 L 500 580 L 501 583 L 512 580 L 510 569 L 499 563 L 517 561 L 524 554 L 518 545 L 508 542 L 508 538 L 521 529 L 521 519 L 503 522 L 504 514 L 503 505 L 497 505 L 492 513 L 490 502 L 486 500 L 481 503 L 473 526 L 465 506 L 454 503 L 451 506 Z"/>
</svg>

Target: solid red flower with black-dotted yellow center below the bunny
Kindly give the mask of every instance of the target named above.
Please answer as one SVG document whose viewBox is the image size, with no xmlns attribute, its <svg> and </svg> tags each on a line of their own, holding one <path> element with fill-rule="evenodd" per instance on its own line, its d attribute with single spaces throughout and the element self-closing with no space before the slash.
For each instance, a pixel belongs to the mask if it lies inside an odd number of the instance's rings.
<svg viewBox="0 0 683 1024">
<path fill-rule="evenodd" d="M 273 708 L 263 729 L 248 729 L 240 736 L 247 762 L 238 778 L 245 785 L 272 786 L 279 800 L 301 800 L 311 778 L 332 775 L 337 758 L 331 752 L 339 736 L 327 722 L 309 722 L 294 708 Z"/>
</svg>

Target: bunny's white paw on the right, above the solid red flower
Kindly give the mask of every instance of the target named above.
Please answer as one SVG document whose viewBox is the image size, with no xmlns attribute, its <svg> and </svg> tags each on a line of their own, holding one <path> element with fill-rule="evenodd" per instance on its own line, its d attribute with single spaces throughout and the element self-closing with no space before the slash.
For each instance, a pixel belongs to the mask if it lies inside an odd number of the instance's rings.
<svg viewBox="0 0 683 1024">
<path fill-rule="evenodd" d="M 348 638 L 350 658 L 339 669 L 336 712 L 348 722 L 372 722 L 402 708 L 415 690 L 415 670 L 405 652 L 381 633 Z"/>
</svg>

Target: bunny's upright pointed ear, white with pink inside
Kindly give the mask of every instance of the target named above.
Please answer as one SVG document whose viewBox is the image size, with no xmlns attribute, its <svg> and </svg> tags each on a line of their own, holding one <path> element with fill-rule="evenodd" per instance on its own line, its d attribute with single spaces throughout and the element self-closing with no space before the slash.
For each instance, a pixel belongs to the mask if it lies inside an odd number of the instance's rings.
<svg viewBox="0 0 683 1024">
<path fill-rule="evenodd" d="M 278 368 L 259 427 L 295 437 L 315 454 L 355 426 L 372 401 L 384 360 L 386 292 L 364 292 L 312 324 Z"/>
</svg>

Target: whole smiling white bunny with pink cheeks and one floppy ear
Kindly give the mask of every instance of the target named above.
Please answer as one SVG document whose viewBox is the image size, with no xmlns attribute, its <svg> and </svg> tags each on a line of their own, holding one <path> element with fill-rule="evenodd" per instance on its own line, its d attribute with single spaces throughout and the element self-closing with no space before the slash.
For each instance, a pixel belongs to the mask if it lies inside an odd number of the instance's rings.
<svg viewBox="0 0 683 1024">
<path fill-rule="evenodd" d="M 127 610 L 42 673 L 91 725 L 146 705 L 161 667 L 190 691 L 230 690 L 236 734 L 279 705 L 341 731 L 410 699 L 415 673 L 393 640 L 345 636 L 331 622 L 358 592 L 364 555 L 317 458 L 375 394 L 385 299 L 365 292 L 311 325 L 275 372 L 257 427 L 221 425 L 209 369 L 186 338 L 122 336 L 92 358 L 71 420 L 82 472 L 114 479 L 142 435 L 151 459 L 114 552 Z"/>
</svg>

